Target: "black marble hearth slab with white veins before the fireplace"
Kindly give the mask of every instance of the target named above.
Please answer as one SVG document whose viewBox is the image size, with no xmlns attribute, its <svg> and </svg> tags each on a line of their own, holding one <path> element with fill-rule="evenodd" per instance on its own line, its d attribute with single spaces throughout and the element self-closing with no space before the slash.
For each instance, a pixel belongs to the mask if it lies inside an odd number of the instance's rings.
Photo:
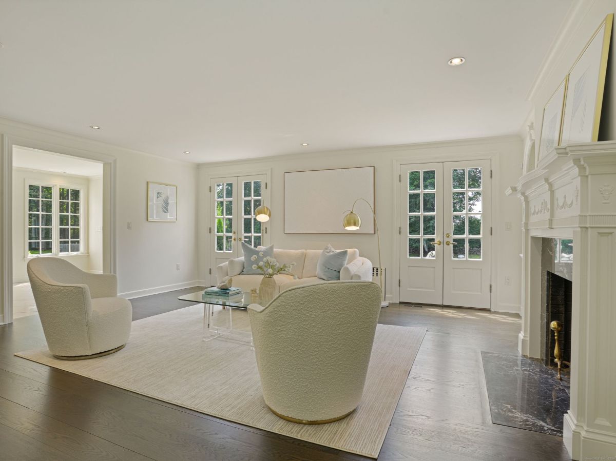
<svg viewBox="0 0 616 461">
<path fill-rule="evenodd" d="M 492 422 L 562 437 L 569 392 L 540 360 L 482 352 Z"/>
</svg>

